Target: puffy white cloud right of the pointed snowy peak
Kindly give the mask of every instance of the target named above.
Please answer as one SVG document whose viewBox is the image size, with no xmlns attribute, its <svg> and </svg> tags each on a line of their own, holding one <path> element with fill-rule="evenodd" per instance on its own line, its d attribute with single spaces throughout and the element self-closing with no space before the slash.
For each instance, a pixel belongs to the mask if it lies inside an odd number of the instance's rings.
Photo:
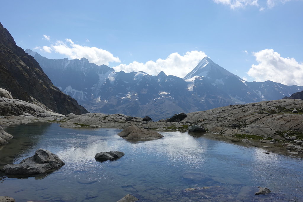
<svg viewBox="0 0 303 202">
<path fill-rule="evenodd" d="M 294 58 L 283 58 L 273 49 L 253 53 L 258 65 L 251 65 L 247 72 L 256 81 L 275 81 L 285 85 L 303 86 L 303 63 Z"/>
</svg>

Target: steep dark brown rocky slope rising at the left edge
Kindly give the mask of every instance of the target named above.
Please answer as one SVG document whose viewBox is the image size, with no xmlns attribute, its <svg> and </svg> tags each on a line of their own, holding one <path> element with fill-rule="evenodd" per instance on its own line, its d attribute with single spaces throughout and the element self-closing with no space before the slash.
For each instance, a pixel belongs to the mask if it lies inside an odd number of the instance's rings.
<svg viewBox="0 0 303 202">
<path fill-rule="evenodd" d="M 10 91 L 16 99 L 33 103 L 32 98 L 35 98 L 60 114 L 89 113 L 75 99 L 62 93 L 52 84 L 38 62 L 16 45 L 1 23 L 0 88 Z"/>
</svg>

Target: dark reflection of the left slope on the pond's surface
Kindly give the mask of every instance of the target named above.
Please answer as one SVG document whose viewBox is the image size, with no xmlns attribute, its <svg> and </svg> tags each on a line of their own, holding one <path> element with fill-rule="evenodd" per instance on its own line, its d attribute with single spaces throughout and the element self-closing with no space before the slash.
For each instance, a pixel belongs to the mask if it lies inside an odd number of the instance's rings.
<svg viewBox="0 0 303 202">
<path fill-rule="evenodd" d="M 5 131 L 14 137 L 0 147 L 0 169 L 6 164 L 19 163 L 23 157 L 28 157 L 25 154 L 41 141 L 49 126 L 50 123 L 37 122 L 6 127 Z"/>
</svg>

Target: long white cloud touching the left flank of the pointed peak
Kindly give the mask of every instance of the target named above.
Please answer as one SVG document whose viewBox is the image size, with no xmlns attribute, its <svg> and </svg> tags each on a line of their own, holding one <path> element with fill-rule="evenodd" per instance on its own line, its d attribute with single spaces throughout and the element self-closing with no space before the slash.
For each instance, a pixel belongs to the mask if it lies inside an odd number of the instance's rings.
<svg viewBox="0 0 303 202">
<path fill-rule="evenodd" d="M 150 75 L 158 75 L 164 71 L 166 75 L 174 75 L 183 78 L 198 63 L 207 56 L 203 51 L 186 52 L 183 56 L 178 53 L 172 53 L 165 59 L 156 61 L 147 61 L 146 63 L 134 61 L 128 65 L 120 64 L 113 67 L 115 71 L 145 71 Z"/>
</svg>

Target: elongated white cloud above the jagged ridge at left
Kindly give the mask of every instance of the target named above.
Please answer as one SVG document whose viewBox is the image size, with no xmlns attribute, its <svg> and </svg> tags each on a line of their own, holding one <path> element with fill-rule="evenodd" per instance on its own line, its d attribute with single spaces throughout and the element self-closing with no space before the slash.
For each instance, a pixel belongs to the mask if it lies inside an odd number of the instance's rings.
<svg viewBox="0 0 303 202">
<path fill-rule="evenodd" d="M 108 65 L 109 62 L 121 62 L 118 57 L 114 57 L 109 51 L 75 44 L 71 39 L 56 41 L 55 45 L 43 46 L 46 52 L 55 51 L 57 53 L 68 56 L 70 59 L 87 58 L 90 63 L 97 65 Z"/>
</svg>

